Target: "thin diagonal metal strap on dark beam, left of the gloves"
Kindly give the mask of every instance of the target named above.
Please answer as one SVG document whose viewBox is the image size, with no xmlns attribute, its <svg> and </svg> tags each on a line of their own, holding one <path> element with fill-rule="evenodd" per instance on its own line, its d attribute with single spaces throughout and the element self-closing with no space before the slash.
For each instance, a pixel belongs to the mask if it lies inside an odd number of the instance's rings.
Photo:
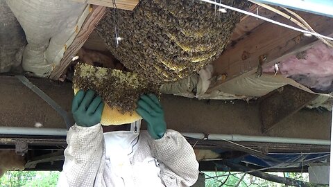
<svg viewBox="0 0 333 187">
<path fill-rule="evenodd" d="M 42 91 L 37 86 L 35 86 L 35 84 L 30 82 L 28 80 L 28 78 L 26 78 L 24 75 L 15 75 L 15 77 L 18 80 L 20 80 L 24 85 L 26 85 L 26 87 L 31 89 L 31 91 L 35 92 L 35 94 L 40 96 L 40 98 L 42 98 L 46 103 L 48 103 L 53 109 L 55 109 L 56 112 L 58 112 L 58 114 L 60 114 L 60 116 L 62 116 L 62 118 L 65 121 L 67 130 L 69 130 L 69 128 L 71 127 L 71 125 L 74 124 L 74 122 L 71 121 L 71 118 L 69 118 L 68 113 L 64 109 L 62 109 L 62 107 L 60 107 L 60 105 L 58 105 L 58 103 L 56 103 L 56 101 L 54 101 L 47 94 L 45 94 L 44 91 Z"/>
</svg>

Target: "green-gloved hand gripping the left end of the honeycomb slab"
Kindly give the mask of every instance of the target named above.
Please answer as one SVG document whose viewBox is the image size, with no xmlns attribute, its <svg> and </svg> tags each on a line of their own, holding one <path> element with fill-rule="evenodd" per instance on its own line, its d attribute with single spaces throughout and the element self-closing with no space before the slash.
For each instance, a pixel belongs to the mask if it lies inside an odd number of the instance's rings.
<svg viewBox="0 0 333 187">
<path fill-rule="evenodd" d="M 101 123 L 104 103 L 101 96 L 95 97 L 95 94 L 95 91 L 81 89 L 74 96 L 71 112 L 77 125 L 92 127 Z"/>
</svg>

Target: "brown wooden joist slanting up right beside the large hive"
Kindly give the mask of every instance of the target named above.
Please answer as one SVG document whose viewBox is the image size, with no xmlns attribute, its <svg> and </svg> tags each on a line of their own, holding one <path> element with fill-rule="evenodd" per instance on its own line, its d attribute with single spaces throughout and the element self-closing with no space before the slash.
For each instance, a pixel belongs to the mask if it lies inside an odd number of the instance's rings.
<svg viewBox="0 0 333 187">
<path fill-rule="evenodd" d="M 332 18 L 304 12 L 298 12 L 298 14 L 318 33 L 333 35 Z M 278 15 L 273 19 L 291 24 L 290 21 Z M 305 51 L 318 42 L 320 41 L 316 37 L 304 37 L 298 31 L 265 22 L 244 39 L 228 46 L 222 55 L 213 62 L 214 74 L 226 75 L 226 78 L 212 84 L 207 93 L 218 89 L 223 82 L 255 73 L 261 55 L 266 55 L 264 66 L 273 66 L 275 62 L 284 60 L 300 51 Z"/>
</svg>

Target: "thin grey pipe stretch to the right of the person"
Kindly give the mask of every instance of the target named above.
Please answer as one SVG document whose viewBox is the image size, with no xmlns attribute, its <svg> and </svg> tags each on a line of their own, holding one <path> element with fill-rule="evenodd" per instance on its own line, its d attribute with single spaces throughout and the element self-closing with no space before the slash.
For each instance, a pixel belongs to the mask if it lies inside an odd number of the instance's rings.
<svg viewBox="0 0 333 187">
<path fill-rule="evenodd" d="M 191 137 L 194 139 L 208 139 L 219 141 L 249 141 L 249 142 L 267 142 L 267 143 L 296 143 L 308 145 L 330 145 L 329 140 L 321 139 L 296 139 L 284 138 L 273 136 L 246 136 L 240 134 L 205 134 L 203 133 L 182 133 L 183 136 Z"/>
</svg>

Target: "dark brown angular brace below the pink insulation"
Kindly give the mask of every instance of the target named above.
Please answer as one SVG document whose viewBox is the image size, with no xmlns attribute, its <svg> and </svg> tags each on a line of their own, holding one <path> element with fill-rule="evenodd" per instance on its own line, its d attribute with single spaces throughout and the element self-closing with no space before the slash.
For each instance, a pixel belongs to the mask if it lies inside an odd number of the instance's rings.
<svg viewBox="0 0 333 187">
<path fill-rule="evenodd" d="M 310 94 L 291 85 L 286 85 L 267 94 L 259 103 L 262 132 L 268 132 L 277 123 L 295 114 L 317 97 L 316 94 Z"/>
</svg>

